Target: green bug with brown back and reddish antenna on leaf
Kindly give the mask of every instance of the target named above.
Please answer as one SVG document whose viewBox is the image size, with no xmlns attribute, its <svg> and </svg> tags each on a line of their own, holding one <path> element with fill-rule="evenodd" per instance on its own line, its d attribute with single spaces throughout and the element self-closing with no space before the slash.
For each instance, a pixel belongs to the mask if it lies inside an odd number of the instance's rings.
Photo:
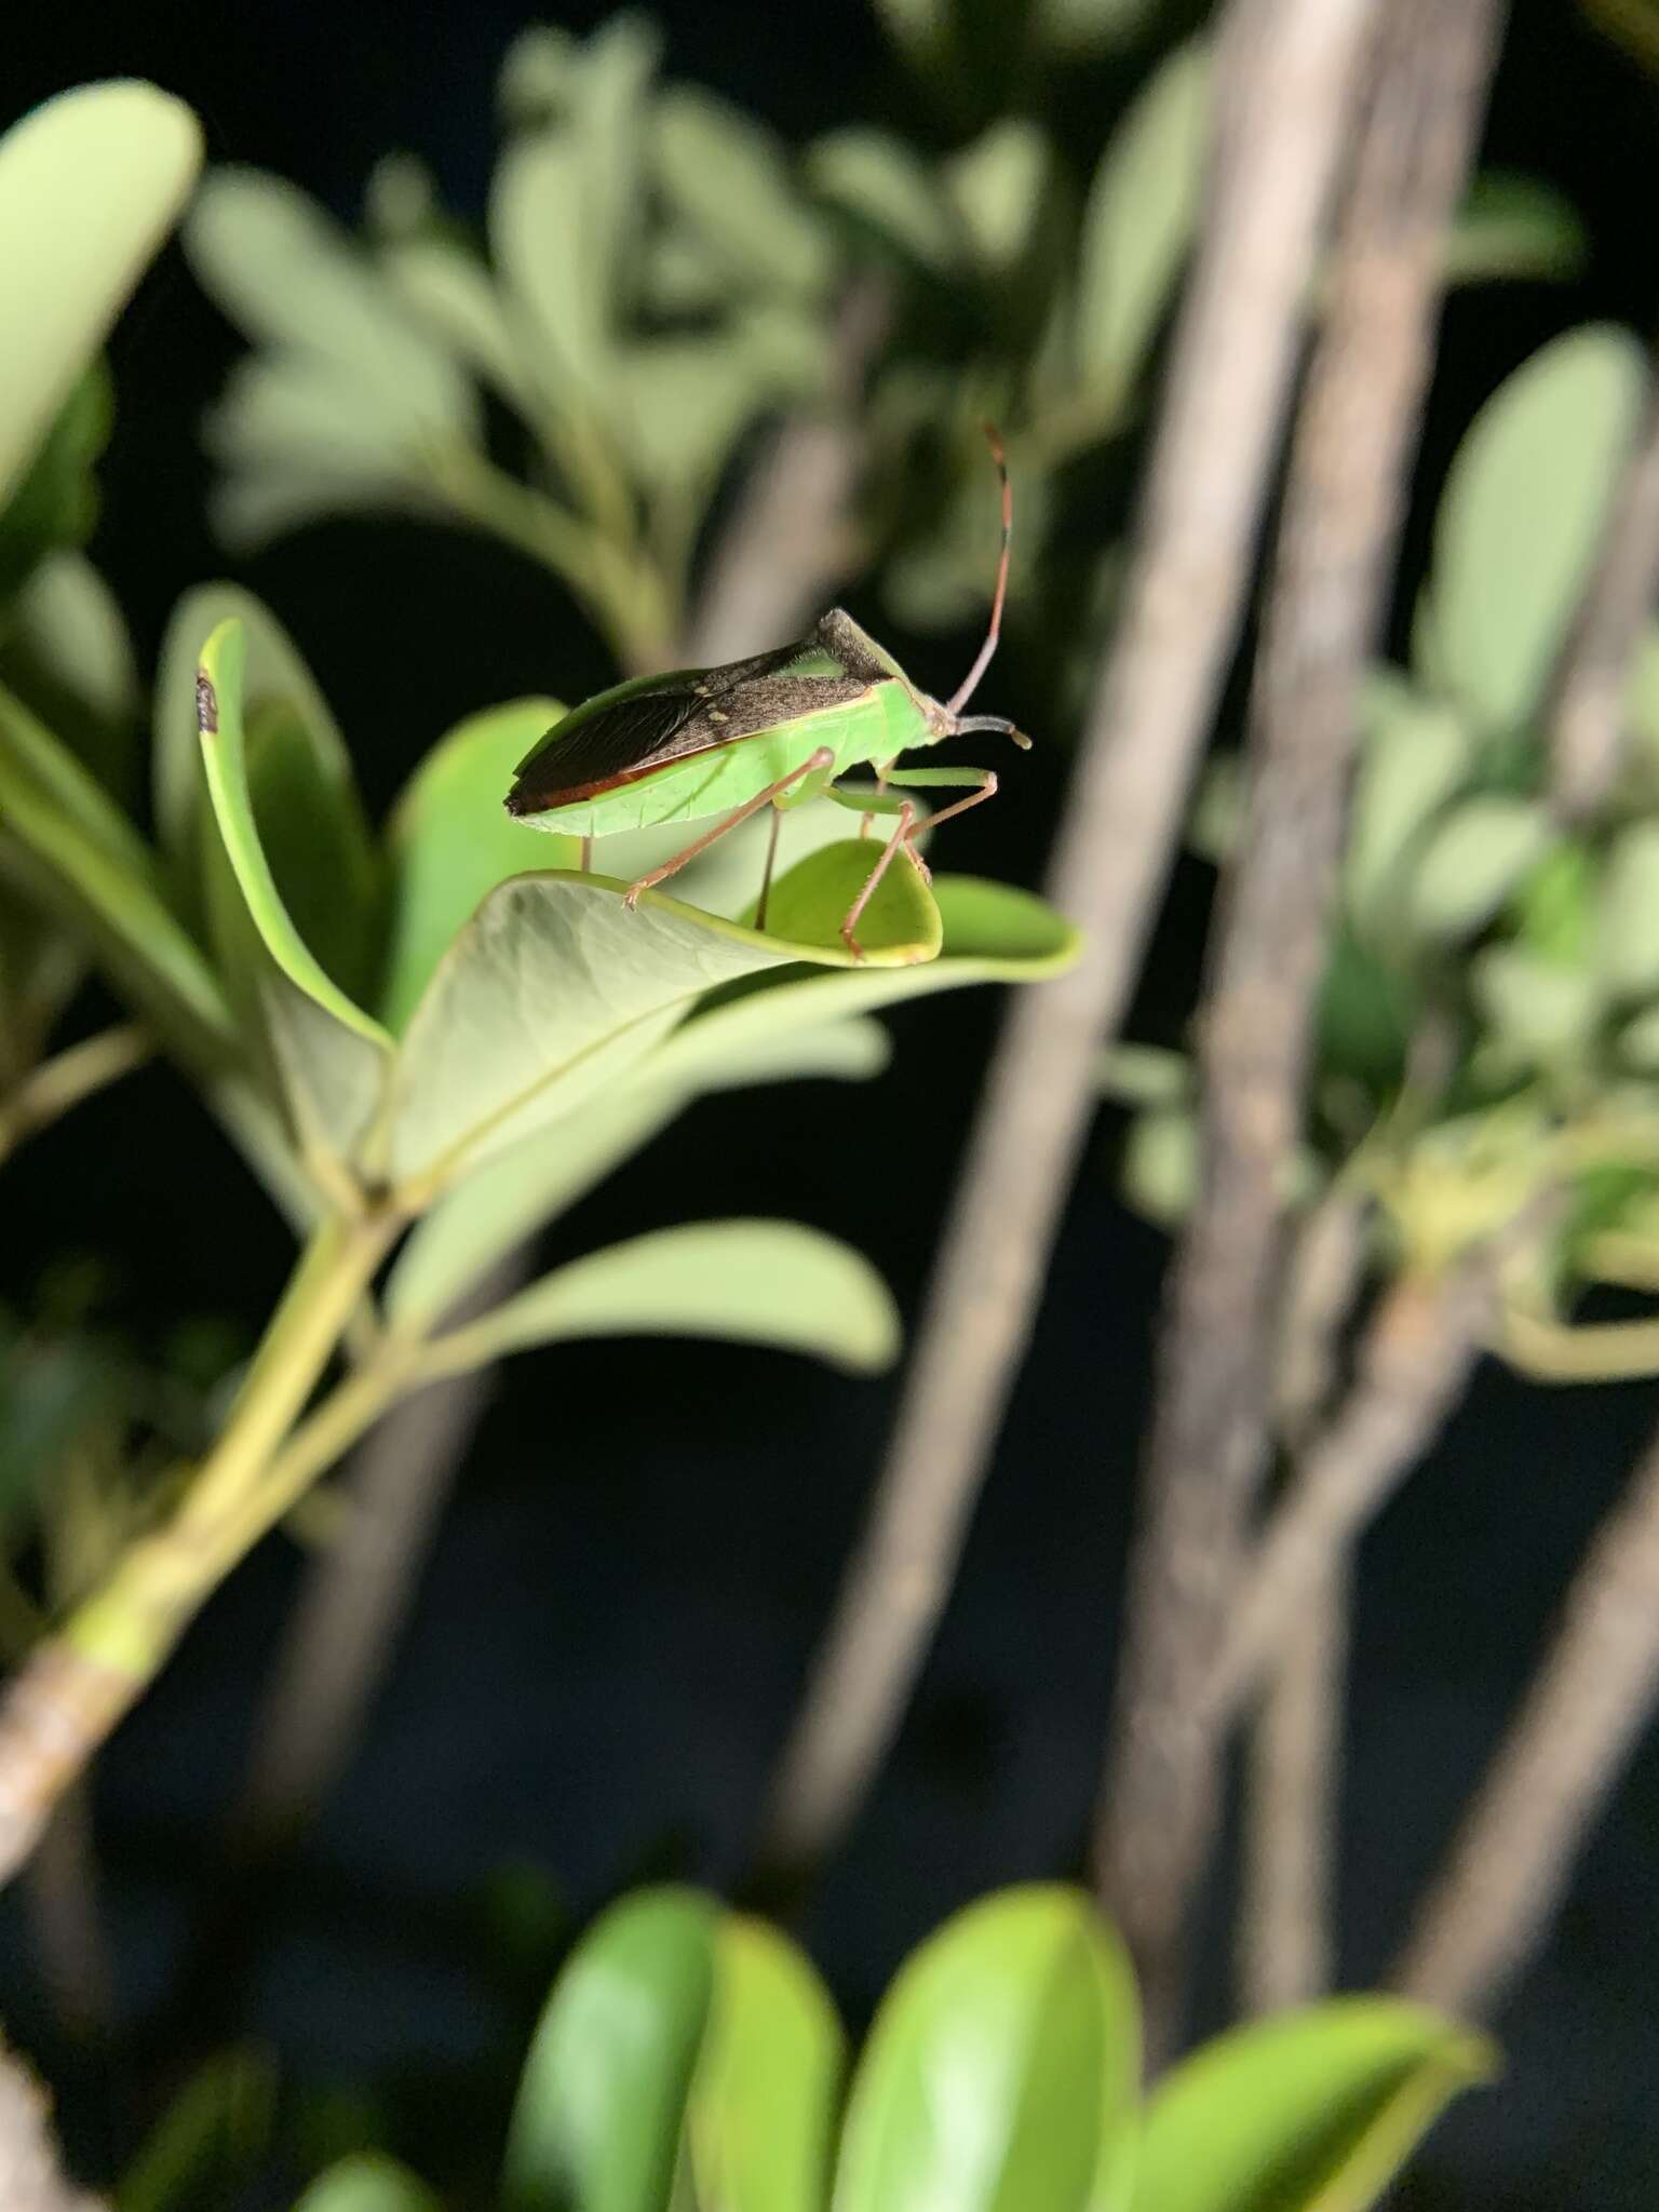
<svg viewBox="0 0 1659 2212">
<path fill-rule="evenodd" d="M 858 916 L 894 858 L 902 852 L 927 874 L 916 849 L 918 834 L 980 805 L 998 787 L 989 768 L 900 768 L 898 754 L 967 730 L 998 730 L 1015 745 L 1031 743 L 998 714 L 962 712 L 995 653 L 1009 591 L 1013 495 L 1002 445 L 989 425 L 987 438 L 1002 478 L 1002 553 L 984 644 L 947 701 L 918 690 L 852 615 L 832 608 L 796 644 L 723 668 L 635 677 L 586 699 L 520 761 L 507 812 L 538 830 L 584 841 L 721 816 L 672 860 L 630 885 L 628 905 L 763 805 L 783 810 L 823 794 L 863 814 L 865 830 L 876 814 L 894 816 L 894 830 L 841 925 L 847 949 L 863 958 Z M 838 790 L 836 776 L 860 763 L 876 768 L 878 790 Z M 918 821 L 914 803 L 889 796 L 887 785 L 900 792 L 967 790 L 969 796 Z M 774 812 L 757 927 L 765 927 L 776 832 Z"/>
</svg>

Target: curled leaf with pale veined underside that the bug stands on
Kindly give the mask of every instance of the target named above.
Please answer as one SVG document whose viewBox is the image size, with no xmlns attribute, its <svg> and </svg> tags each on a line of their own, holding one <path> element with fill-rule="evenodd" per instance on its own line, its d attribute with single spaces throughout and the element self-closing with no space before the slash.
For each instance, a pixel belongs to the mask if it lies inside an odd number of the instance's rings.
<svg viewBox="0 0 1659 2212">
<path fill-rule="evenodd" d="M 858 967 L 841 918 L 869 865 L 863 838 L 812 854 L 772 887 L 765 933 L 657 891 L 630 911 L 626 885 L 608 876 L 500 885 L 409 1018 L 394 1075 L 396 1179 L 442 1181 L 568 1113 L 714 984 L 801 960 Z M 860 936 L 869 969 L 938 953 L 938 907 L 914 867 L 889 867 Z"/>
</svg>

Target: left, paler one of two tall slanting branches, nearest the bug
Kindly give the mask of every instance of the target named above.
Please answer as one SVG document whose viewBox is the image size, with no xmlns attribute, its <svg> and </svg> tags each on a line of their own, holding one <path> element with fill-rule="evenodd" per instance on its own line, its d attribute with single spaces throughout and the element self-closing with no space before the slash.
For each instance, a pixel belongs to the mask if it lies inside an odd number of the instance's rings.
<svg viewBox="0 0 1659 2212">
<path fill-rule="evenodd" d="M 1250 584 L 1369 0 L 1230 0 L 1199 250 L 1048 894 L 1077 967 L 1006 1015 L 869 1528 L 765 1816 L 794 1880 L 858 1809 L 956 1571 Z M 1272 128 L 1261 126 L 1272 115 Z"/>
</svg>

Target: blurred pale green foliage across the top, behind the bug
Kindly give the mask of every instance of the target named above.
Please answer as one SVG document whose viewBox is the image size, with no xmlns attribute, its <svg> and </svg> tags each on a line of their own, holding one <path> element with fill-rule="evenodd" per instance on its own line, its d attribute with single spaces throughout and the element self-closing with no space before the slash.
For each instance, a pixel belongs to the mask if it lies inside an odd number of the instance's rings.
<svg viewBox="0 0 1659 2212">
<path fill-rule="evenodd" d="M 843 568 L 874 568 L 898 622 L 945 628 L 991 580 L 991 418 L 1018 484 L 1011 622 L 1037 626 L 1075 703 L 1110 613 L 1115 447 L 1199 208 L 1208 55 L 1139 55 L 1077 173 L 1020 102 L 1073 55 L 1135 51 L 1152 9 L 883 18 L 947 111 L 975 108 L 951 97 L 969 77 L 1009 111 L 945 157 L 867 124 L 794 157 L 659 82 L 657 33 L 622 13 L 509 51 L 487 241 L 407 153 L 372 175 L 363 239 L 276 177 L 210 175 L 186 246 L 254 345 L 208 422 L 226 540 L 354 509 L 473 524 L 544 562 L 626 668 L 659 668 L 684 657 L 699 544 L 748 434 L 825 418 L 863 451 Z M 1579 254 L 1555 195 L 1482 177 L 1447 265 L 1562 276 Z M 858 299 L 880 301 L 885 336 L 849 363 Z"/>
</svg>

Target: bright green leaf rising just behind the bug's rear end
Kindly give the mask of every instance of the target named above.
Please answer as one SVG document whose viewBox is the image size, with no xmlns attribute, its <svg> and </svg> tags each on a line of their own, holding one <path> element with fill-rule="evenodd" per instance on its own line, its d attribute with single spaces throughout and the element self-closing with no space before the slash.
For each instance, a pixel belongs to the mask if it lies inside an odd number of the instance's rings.
<svg viewBox="0 0 1659 2212">
<path fill-rule="evenodd" d="M 469 714 L 420 761 L 387 827 L 394 860 L 392 949 L 380 1018 L 400 1031 L 462 922 L 498 883 L 575 867 L 577 838 L 511 818 L 513 770 L 560 719 L 557 699 L 513 699 Z"/>
</svg>

